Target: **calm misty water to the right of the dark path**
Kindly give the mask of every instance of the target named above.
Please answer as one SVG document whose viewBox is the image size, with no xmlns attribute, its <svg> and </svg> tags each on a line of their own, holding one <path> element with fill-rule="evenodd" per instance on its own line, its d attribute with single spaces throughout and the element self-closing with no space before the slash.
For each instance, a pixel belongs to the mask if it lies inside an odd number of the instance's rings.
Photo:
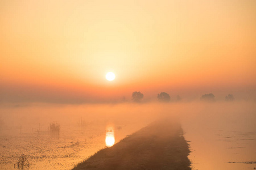
<svg viewBox="0 0 256 170">
<path fill-rule="evenodd" d="M 256 109 L 253 103 L 207 104 L 183 119 L 192 169 L 255 169 Z"/>
</svg>

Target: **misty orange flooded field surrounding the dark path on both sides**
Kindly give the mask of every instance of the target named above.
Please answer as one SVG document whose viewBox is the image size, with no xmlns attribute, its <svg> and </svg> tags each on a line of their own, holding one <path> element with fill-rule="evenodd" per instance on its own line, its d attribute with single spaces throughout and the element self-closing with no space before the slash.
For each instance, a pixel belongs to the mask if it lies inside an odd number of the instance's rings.
<svg viewBox="0 0 256 170">
<path fill-rule="evenodd" d="M 5 106 L 0 167 L 12 168 L 24 154 L 30 169 L 71 169 L 107 145 L 109 127 L 117 143 L 164 118 L 180 122 L 190 141 L 192 169 L 252 168 L 255 113 L 255 103 L 246 101 Z M 59 126 L 58 133 L 52 124 Z"/>
</svg>

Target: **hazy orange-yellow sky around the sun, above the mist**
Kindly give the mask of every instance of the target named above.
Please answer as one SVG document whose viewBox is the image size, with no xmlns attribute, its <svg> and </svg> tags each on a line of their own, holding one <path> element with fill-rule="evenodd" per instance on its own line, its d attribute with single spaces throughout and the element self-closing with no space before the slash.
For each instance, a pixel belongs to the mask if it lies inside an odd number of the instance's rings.
<svg viewBox="0 0 256 170">
<path fill-rule="evenodd" d="M 0 101 L 255 95 L 255 0 L 1 0 L 0 25 Z"/>
</svg>

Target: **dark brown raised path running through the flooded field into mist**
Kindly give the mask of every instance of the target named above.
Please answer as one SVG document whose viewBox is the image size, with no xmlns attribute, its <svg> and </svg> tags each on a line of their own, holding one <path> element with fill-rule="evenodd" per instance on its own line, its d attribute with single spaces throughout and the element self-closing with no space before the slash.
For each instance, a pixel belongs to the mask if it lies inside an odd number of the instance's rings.
<svg viewBox="0 0 256 170">
<path fill-rule="evenodd" d="M 73 169 L 191 169 L 189 152 L 180 124 L 166 119 L 98 151 Z"/>
</svg>

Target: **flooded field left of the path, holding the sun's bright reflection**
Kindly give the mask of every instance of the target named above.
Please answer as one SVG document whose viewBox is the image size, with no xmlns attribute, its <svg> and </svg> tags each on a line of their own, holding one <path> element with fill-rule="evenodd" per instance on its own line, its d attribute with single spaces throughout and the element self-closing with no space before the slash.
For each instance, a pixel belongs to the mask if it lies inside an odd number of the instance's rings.
<svg viewBox="0 0 256 170">
<path fill-rule="evenodd" d="M 125 110 L 108 105 L 3 108 L 0 169 L 18 168 L 23 155 L 29 169 L 71 169 L 152 121 Z"/>
</svg>

